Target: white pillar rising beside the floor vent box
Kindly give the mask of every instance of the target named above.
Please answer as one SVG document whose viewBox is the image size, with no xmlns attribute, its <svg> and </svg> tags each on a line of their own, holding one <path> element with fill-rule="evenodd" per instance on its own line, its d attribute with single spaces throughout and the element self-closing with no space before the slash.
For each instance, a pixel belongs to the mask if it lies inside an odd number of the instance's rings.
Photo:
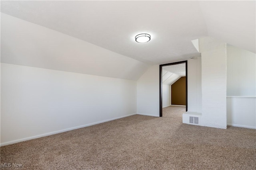
<svg viewBox="0 0 256 170">
<path fill-rule="evenodd" d="M 202 56 L 202 126 L 226 129 L 226 43 L 199 39 Z"/>
</svg>

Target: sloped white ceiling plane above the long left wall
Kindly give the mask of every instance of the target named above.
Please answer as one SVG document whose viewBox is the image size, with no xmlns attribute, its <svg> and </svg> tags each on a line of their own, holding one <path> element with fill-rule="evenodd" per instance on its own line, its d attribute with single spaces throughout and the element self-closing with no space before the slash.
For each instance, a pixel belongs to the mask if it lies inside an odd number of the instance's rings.
<svg viewBox="0 0 256 170">
<path fill-rule="evenodd" d="M 148 65 L 40 25 L 1 14 L 1 62 L 138 80 Z"/>
</svg>

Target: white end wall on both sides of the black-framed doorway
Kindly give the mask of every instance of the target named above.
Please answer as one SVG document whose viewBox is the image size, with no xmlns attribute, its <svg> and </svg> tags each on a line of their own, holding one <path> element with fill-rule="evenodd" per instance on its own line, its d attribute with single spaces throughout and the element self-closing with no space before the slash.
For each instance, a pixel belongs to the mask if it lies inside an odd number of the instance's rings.
<svg viewBox="0 0 256 170">
<path fill-rule="evenodd" d="M 196 69 L 190 72 L 190 70 L 193 70 L 194 68 Z M 200 58 L 189 59 L 188 110 L 190 109 L 195 112 L 200 112 L 202 108 L 200 102 L 202 101 L 200 74 Z M 159 65 L 154 65 L 148 68 L 148 70 L 137 81 L 137 113 L 159 116 L 159 100 Z"/>
</svg>

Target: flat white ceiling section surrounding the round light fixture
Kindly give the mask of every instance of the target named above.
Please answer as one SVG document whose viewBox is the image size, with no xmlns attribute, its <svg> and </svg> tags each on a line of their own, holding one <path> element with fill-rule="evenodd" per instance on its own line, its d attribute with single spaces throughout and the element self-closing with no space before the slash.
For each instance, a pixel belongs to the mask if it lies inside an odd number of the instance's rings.
<svg viewBox="0 0 256 170">
<path fill-rule="evenodd" d="M 208 35 L 196 1 L 1 1 L 1 12 L 151 65 L 200 56 L 190 41 Z"/>
</svg>

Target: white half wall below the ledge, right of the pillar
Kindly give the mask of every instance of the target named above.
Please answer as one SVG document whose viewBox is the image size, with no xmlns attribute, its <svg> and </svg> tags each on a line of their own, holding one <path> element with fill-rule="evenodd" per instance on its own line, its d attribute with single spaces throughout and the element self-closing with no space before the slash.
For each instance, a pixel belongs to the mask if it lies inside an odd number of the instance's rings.
<svg viewBox="0 0 256 170">
<path fill-rule="evenodd" d="M 256 129 L 256 97 L 227 97 L 228 125 Z"/>
</svg>

